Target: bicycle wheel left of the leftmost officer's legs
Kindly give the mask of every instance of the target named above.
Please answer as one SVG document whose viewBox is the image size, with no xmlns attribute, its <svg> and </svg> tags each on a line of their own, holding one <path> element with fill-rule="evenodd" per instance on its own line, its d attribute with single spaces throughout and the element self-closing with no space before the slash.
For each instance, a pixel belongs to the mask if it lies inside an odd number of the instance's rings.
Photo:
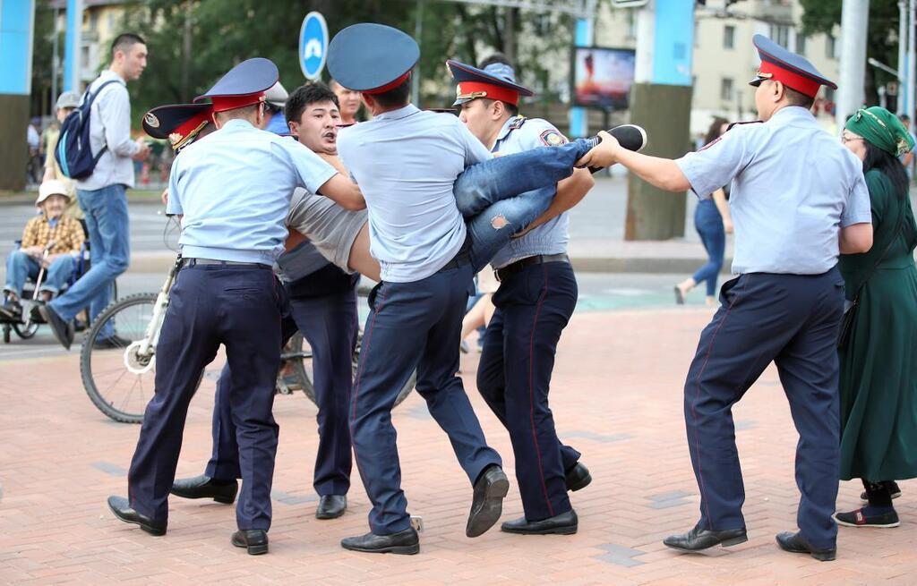
<svg viewBox="0 0 917 586">
<path fill-rule="evenodd" d="M 115 301 L 83 338 L 80 374 L 86 394 L 106 416 L 122 423 L 141 423 L 153 396 L 156 356 L 140 355 L 138 349 L 153 319 L 156 297 L 141 293 Z M 108 344 L 96 347 L 103 337 Z"/>
</svg>

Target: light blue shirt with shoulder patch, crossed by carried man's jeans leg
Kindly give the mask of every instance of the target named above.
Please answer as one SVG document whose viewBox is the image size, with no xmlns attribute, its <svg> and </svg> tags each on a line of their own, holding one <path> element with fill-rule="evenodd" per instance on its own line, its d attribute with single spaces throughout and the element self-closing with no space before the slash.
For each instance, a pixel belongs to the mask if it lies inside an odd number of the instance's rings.
<svg viewBox="0 0 917 586">
<path fill-rule="evenodd" d="M 494 153 L 511 155 L 539 146 L 559 146 L 567 142 L 567 138 L 547 120 L 540 118 L 523 120 L 522 125 L 518 125 L 519 117 L 517 116 L 506 121 L 493 144 Z M 559 255 L 567 252 L 568 242 L 569 214 L 563 212 L 526 233 L 525 236 L 511 240 L 493 256 L 491 266 L 500 268 L 526 256 Z"/>
</svg>

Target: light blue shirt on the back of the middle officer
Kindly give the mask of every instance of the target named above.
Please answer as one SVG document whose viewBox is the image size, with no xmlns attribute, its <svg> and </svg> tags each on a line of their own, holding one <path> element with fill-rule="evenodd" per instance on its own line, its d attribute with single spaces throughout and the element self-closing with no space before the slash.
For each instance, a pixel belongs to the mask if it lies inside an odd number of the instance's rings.
<svg viewBox="0 0 917 586">
<path fill-rule="evenodd" d="M 419 281 L 452 260 L 466 234 L 452 184 L 491 158 L 457 117 L 408 104 L 342 129 L 337 153 L 366 198 L 383 281 Z"/>
</svg>

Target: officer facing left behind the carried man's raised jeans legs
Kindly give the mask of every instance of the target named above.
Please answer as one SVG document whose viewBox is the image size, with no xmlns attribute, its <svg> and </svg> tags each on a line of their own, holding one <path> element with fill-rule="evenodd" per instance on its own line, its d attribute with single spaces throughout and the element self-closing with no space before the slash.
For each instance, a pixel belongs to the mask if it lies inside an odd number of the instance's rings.
<svg viewBox="0 0 917 586">
<path fill-rule="evenodd" d="M 493 152 L 567 143 L 547 120 L 518 114 L 520 95 L 533 92 L 515 83 L 503 56 L 485 61 L 483 69 L 454 60 L 447 66 L 458 84 L 459 119 Z M 578 169 L 547 189 L 552 198 L 555 191 L 562 195 L 552 207 L 580 201 L 593 184 L 589 171 Z M 569 214 L 560 212 L 503 246 L 491 262 L 500 288 L 483 338 L 478 390 L 513 440 L 525 515 L 503 523 L 510 533 L 576 533 L 579 522 L 567 493 L 591 482 L 580 452 L 558 440 L 547 400 L 560 333 L 577 301 L 568 241 Z"/>
</svg>

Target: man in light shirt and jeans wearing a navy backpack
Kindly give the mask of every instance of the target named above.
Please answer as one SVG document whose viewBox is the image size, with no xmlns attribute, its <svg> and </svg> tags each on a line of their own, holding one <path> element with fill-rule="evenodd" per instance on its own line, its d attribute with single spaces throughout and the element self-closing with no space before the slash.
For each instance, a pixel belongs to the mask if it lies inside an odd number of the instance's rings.
<svg viewBox="0 0 917 586">
<path fill-rule="evenodd" d="M 83 100 L 61 126 L 54 153 L 64 175 L 77 179 L 76 197 L 86 214 L 92 267 L 61 297 L 39 308 L 64 348 L 73 341 L 73 317 L 87 305 L 94 320 L 108 305 L 111 285 L 127 270 L 129 258 L 127 195 L 134 187 L 133 160 L 149 155 L 149 146 L 130 138 L 127 81 L 137 80 L 147 66 L 147 45 L 132 33 L 112 42 L 112 62 L 93 81 Z M 89 151 L 79 146 L 88 136 Z M 96 344 L 116 344 L 114 331 Z"/>
</svg>

